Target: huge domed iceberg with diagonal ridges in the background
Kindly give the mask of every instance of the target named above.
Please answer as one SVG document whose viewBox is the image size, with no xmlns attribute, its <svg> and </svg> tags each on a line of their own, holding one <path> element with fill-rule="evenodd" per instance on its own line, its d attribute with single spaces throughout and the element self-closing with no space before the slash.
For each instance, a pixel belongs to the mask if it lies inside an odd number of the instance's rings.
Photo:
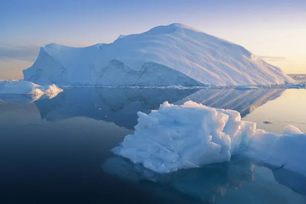
<svg viewBox="0 0 306 204">
<path fill-rule="evenodd" d="M 256 86 L 295 82 L 244 47 L 180 23 L 119 36 L 110 44 L 47 44 L 23 75 L 25 81 L 59 86 Z"/>
</svg>

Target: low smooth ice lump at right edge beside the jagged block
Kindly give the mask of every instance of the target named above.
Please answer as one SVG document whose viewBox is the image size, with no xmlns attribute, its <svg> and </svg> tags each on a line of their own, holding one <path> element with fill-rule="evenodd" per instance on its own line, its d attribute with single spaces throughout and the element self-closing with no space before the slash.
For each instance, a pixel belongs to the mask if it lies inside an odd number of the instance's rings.
<svg viewBox="0 0 306 204">
<path fill-rule="evenodd" d="M 306 134 L 288 125 L 282 135 L 257 130 L 244 154 L 255 160 L 306 175 Z"/>
</svg>

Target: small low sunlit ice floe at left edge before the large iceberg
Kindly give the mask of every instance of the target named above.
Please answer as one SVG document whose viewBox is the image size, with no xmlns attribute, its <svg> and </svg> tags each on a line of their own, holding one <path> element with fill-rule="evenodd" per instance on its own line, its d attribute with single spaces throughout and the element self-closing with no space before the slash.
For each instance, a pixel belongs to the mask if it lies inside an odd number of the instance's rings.
<svg viewBox="0 0 306 204">
<path fill-rule="evenodd" d="M 51 98 L 62 92 L 56 85 L 40 86 L 27 81 L 10 81 L 0 84 L 0 94 L 50 95 Z"/>
</svg>

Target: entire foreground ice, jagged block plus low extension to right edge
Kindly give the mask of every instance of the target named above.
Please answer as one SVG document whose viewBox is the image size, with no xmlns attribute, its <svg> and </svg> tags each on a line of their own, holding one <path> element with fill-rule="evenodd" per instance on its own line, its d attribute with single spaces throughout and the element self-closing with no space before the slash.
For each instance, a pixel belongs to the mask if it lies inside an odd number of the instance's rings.
<svg viewBox="0 0 306 204">
<path fill-rule="evenodd" d="M 226 162 L 239 154 L 306 174 L 306 158 L 299 157 L 306 153 L 306 135 L 294 126 L 279 136 L 256 130 L 256 123 L 242 121 L 237 111 L 193 101 L 181 106 L 166 101 L 158 111 L 138 116 L 134 135 L 112 151 L 158 173 Z"/>
</svg>

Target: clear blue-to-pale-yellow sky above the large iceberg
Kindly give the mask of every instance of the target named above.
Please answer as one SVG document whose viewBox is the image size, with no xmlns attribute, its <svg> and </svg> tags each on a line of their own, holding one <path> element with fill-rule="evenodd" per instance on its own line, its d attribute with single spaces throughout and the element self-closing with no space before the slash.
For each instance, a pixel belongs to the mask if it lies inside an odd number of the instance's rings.
<svg viewBox="0 0 306 204">
<path fill-rule="evenodd" d="M 111 43 L 174 22 L 306 74 L 305 0 L 0 0 L 0 79 L 22 79 L 45 44 Z"/>
</svg>

